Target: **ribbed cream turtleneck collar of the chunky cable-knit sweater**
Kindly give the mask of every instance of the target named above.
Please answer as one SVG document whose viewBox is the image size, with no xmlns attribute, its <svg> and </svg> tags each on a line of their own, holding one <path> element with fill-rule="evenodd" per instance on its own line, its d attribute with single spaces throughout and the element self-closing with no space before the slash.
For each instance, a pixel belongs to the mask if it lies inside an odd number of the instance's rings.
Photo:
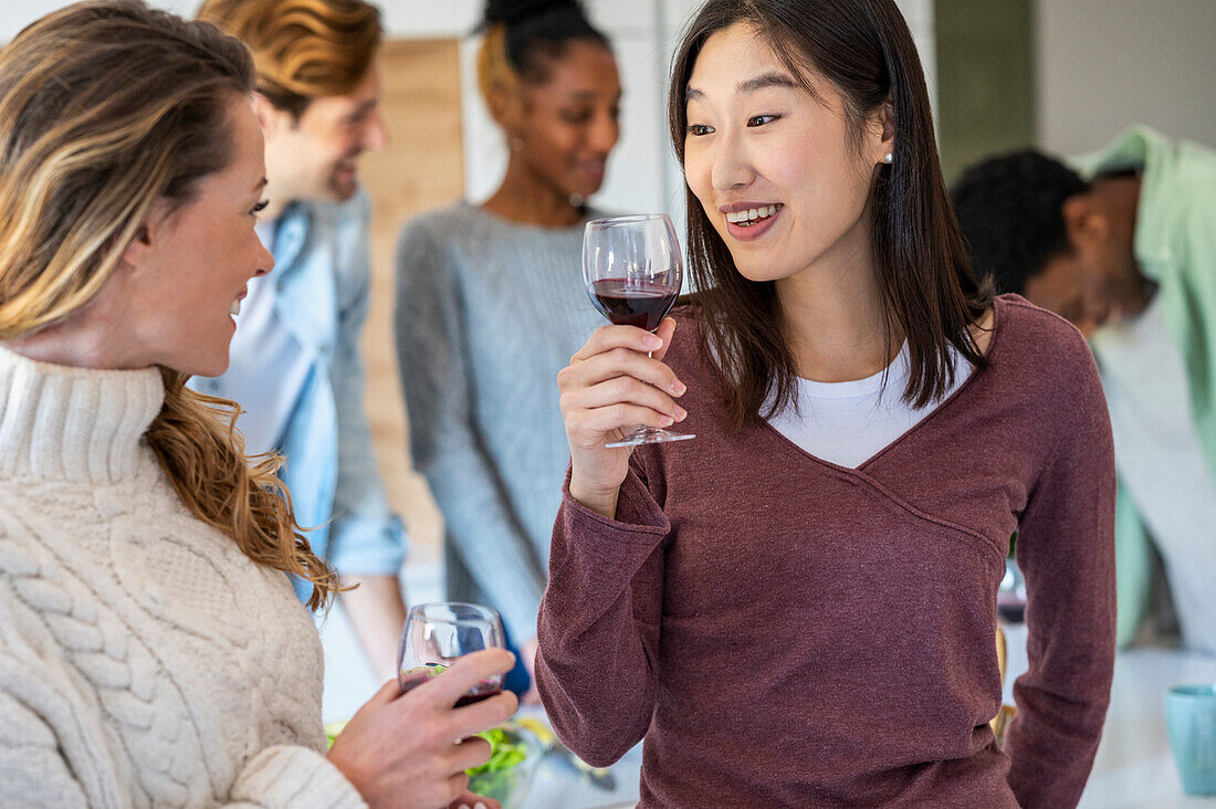
<svg viewBox="0 0 1216 809">
<path fill-rule="evenodd" d="M 163 403 L 156 367 L 68 367 L 0 345 L 0 478 L 105 485 L 130 477 Z"/>
</svg>

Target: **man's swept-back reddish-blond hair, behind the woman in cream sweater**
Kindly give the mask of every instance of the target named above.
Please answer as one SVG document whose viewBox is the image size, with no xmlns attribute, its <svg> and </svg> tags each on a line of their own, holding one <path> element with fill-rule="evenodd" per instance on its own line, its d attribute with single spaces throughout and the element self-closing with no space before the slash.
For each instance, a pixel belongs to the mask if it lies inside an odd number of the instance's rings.
<svg viewBox="0 0 1216 809">
<path fill-rule="evenodd" d="M 383 36 L 364 0 L 207 0 L 198 18 L 246 44 L 258 92 L 295 119 L 313 99 L 355 90 Z"/>
</svg>

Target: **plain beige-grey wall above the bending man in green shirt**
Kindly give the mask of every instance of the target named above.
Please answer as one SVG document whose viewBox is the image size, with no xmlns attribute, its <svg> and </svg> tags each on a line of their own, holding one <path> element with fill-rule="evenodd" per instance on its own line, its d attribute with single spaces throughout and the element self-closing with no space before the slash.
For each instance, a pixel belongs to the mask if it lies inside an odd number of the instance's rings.
<svg viewBox="0 0 1216 809">
<path fill-rule="evenodd" d="M 1074 155 L 1130 123 L 1216 145 L 1216 1 L 1038 0 L 1038 142 Z"/>
</svg>

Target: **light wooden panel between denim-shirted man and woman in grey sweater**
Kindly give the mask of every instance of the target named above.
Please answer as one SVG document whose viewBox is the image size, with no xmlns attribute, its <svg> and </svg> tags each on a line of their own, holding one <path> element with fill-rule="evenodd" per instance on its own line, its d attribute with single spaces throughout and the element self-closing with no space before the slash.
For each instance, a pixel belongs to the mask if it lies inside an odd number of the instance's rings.
<svg viewBox="0 0 1216 809">
<path fill-rule="evenodd" d="M 381 69 L 389 145 L 365 156 L 360 170 L 375 215 L 372 303 L 364 336 L 367 417 L 389 501 L 410 530 L 410 561 L 424 564 L 441 557 L 443 523 L 409 460 L 393 342 L 394 251 L 401 223 L 463 195 L 458 41 L 388 41 Z"/>
</svg>

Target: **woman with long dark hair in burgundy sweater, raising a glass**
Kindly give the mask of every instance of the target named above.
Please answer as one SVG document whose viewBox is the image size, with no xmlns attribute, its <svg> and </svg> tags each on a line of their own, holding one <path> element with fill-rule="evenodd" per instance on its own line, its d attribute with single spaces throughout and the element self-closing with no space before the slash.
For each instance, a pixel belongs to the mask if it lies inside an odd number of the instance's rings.
<svg viewBox="0 0 1216 809">
<path fill-rule="evenodd" d="M 710 0 L 670 103 L 700 292 L 559 376 L 554 726 L 595 764 L 644 737 L 642 807 L 1075 804 L 1114 654 L 1102 388 L 1071 326 L 972 274 L 895 4 Z M 697 439 L 604 446 L 677 421 Z"/>
</svg>

